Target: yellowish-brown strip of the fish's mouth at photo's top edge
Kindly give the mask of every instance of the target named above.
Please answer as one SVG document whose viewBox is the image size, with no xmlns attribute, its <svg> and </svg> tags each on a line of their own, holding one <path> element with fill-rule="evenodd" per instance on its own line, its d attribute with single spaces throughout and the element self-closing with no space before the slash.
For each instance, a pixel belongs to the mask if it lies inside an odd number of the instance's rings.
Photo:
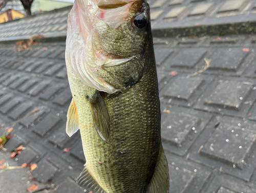
<svg viewBox="0 0 256 193">
<path fill-rule="evenodd" d="M 98 0 L 97 5 L 100 9 L 115 9 L 136 1 L 137 0 Z"/>
</svg>

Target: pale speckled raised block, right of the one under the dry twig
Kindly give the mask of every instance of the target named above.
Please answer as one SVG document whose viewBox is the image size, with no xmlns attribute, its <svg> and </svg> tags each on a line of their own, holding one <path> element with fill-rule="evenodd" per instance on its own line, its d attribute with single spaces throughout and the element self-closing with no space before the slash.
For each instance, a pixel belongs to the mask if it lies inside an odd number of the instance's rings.
<svg viewBox="0 0 256 193">
<path fill-rule="evenodd" d="M 248 95 L 251 83 L 220 80 L 217 87 L 205 99 L 207 104 L 238 109 Z"/>
</svg>

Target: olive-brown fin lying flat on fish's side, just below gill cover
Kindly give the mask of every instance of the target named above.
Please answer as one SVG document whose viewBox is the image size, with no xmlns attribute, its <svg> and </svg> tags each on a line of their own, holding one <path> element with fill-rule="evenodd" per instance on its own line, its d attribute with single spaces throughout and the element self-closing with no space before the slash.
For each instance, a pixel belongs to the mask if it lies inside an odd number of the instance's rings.
<svg viewBox="0 0 256 193">
<path fill-rule="evenodd" d="M 110 116 L 105 101 L 97 91 L 92 97 L 89 96 L 89 103 L 95 129 L 100 138 L 108 143 L 110 139 Z"/>
</svg>

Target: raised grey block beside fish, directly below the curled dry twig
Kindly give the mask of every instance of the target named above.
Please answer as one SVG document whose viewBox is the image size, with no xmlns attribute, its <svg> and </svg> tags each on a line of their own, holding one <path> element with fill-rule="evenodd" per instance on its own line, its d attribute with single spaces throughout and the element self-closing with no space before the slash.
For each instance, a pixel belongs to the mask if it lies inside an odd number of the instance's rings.
<svg viewBox="0 0 256 193">
<path fill-rule="evenodd" d="M 189 80 L 186 77 L 177 77 L 166 89 L 164 96 L 188 100 L 202 81 L 200 77 L 191 77 Z"/>
</svg>

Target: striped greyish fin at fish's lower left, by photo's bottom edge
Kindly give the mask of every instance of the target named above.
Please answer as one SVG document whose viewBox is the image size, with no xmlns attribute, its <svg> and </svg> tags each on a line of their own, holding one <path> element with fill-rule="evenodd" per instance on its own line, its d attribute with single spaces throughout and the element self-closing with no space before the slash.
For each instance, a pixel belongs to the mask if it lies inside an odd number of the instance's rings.
<svg viewBox="0 0 256 193">
<path fill-rule="evenodd" d="M 77 178 L 77 184 L 83 188 L 90 189 L 97 193 L 106 193 L 100 185 L 94 180 L 94 178 L 89 173 L 88 169 L 84 167 L 80 176 Z M 89 191 L 89 190 L 88 190 Z"/>
</svg>

